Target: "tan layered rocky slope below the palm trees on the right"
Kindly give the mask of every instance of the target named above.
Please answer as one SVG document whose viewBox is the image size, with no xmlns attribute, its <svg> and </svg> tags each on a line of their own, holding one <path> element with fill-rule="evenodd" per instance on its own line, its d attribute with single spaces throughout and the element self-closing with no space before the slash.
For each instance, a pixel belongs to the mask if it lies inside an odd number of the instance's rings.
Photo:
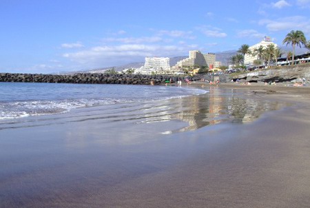
<svg viewBox="0 0 310 208">
<path fill-rule="evenodd" d="M 231 76 L 249 82 L 310 82 L 310 64 L 289 65 Z"/>
</svg>

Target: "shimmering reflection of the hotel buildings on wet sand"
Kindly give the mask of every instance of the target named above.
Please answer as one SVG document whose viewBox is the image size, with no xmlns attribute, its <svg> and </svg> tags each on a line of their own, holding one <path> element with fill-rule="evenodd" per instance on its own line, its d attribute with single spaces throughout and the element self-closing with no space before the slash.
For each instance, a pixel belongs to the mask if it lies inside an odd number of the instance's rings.
<svg viewBox="0 0 310 208">
<path fill-rule="evenodd" d="M 210 87 L 207 94 L 191 96 L 184 99 L 170 101 L 169 105 L 162 105 L 164 111 L 150 116 L 147 114 L 145 122 L 180 120 L 188 123 L 174 132 L 185 132 L 199 129 L 207 125 L 223 122 L 248 123 L 254 121 L 263 112 L 278 110 L 283 103 L 259 101 L 253 96 L 240 98 L 235 90 Z"/>
</svg>

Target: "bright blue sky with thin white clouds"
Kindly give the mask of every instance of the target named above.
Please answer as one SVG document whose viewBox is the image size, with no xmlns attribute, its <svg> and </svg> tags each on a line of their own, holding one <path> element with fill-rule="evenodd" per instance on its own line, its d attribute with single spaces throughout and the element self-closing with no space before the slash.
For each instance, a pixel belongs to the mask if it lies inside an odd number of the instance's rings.
<svg viewBox="0 0 310 208">
<path fill-rule="evenodd" d="M 0 72 L 70 72 L 309 40 L 310 0 L 0 0 L 0 27 Z"/>
</svg>

